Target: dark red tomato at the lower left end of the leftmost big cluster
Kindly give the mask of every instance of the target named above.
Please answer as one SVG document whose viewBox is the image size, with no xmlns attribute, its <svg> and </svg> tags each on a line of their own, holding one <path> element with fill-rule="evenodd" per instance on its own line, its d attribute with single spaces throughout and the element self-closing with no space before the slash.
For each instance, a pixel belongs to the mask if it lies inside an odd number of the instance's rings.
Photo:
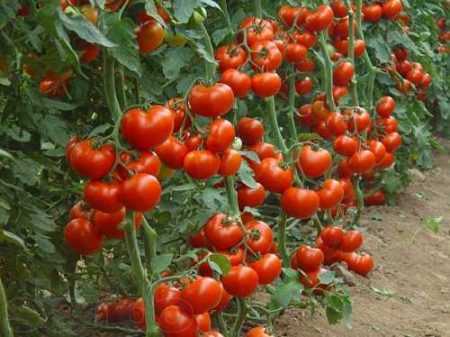
<svg viewBox="0 0 450 337">
<path fill-rule="evenodd" d="M 68 246 L 78 254 L 97 253 L 103 245 L 103 238 L 94 225 L 86 219 L 70 220 L 64 227 L 64 238 Z"/>
</svg>

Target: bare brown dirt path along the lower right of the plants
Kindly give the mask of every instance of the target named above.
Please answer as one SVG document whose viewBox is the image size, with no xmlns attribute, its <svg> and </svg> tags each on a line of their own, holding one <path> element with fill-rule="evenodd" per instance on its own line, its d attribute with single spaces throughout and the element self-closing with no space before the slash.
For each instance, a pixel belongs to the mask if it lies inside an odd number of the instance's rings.
<svg viewBox="0 0 450 337">
<path fill-rule="evenodd" d="M 350 289 L 352 329 L 294 310 L 278 321 L 277 337 L 450 336 L 450 142 L 442 144 L 436 167 L 415 175 L 396 206 L 371 208 L 361 222 L 377 267 Z M 437 217 L 435 234 L 424 220 Z"/>
</svg>

